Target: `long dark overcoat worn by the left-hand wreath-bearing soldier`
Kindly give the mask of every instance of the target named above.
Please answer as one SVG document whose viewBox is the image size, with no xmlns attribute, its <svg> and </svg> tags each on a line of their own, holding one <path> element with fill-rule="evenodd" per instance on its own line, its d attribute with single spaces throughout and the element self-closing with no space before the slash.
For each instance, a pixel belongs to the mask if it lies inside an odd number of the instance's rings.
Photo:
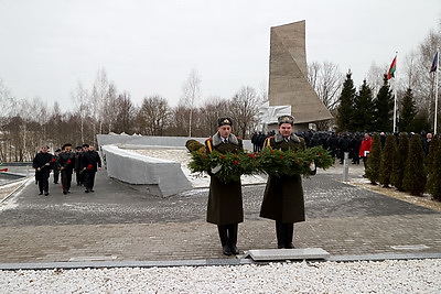
<svg viewBox="0 0 441 294">
<path fill-rule="evenodd" d="M 218 133 L 205 141 L 206 150 L 220 153 L 244 150 L 241 139 L 235 135 L 228 138 L 228 143 L 223 143 Z M 216 175 L 211 174 L 208 205 L 207 205 L 207 222 L 215 225 L 230 225 L 244 221 L 244 207 L 241 198 L 241 183 L 233 181 L 224 183 Z"/>
</svg>

